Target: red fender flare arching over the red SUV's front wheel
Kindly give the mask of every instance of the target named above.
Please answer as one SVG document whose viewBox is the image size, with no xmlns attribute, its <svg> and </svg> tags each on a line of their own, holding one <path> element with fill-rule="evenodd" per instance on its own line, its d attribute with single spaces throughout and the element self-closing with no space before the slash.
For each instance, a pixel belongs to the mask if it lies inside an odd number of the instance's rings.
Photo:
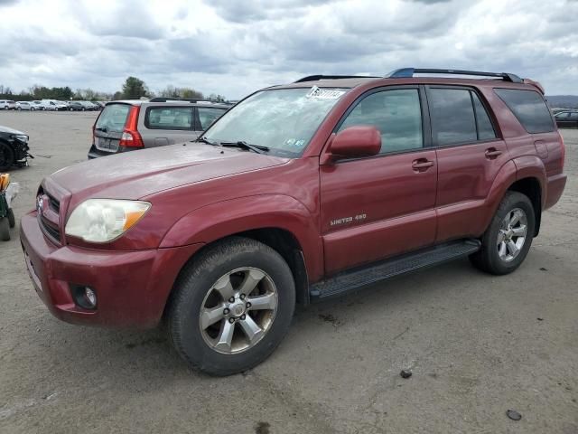
<svg viewBox="0 0 578 434">
<path fill-rule="evenodd" d="M 198 208 L 172 225 L 160 248 L 209 244 L 239 232 L 275 228 L 293 234 L 309 278 L 322 276 L 322 239 L 316 219 L 303 203 L 284 194 L 258 194 Z"/>
</svg>

